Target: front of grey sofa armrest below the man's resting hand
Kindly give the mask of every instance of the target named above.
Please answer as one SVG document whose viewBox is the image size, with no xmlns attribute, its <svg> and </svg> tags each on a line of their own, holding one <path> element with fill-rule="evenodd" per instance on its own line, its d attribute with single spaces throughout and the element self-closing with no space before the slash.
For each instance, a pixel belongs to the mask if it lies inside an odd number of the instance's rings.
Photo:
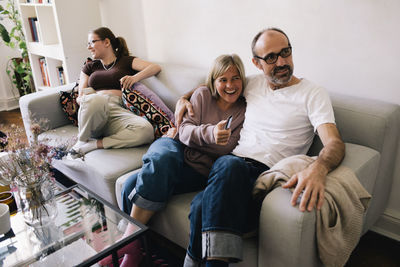
<svg viewBox="0 0 400 267">
<path fill-rule="evenodd" d="M 315 213 L 290 205 L 292 193 L 278 187 L 260 213 L 258 266 L 318 266 Z"/>
</svg>

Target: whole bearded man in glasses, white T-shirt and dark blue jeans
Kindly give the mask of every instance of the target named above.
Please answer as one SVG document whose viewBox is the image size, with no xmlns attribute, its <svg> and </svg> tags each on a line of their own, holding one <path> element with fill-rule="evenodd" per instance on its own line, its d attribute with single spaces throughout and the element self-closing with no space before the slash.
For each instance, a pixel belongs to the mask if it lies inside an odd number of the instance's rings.
<svg viewBox="0 0 400 267">
<path fill-rule="evenodd" d="M 205 191 L 201 198 L 196 196 L 189 215 L 191 223 L 197 221 L 201 228 L 198 229 L 201 237 L 196 238 L 202 243 L 199 246 L 203 259 L 207 264 L 210 259 L 214 260 L 214 265 L 207 266 L 228 266 L 228 262 L 241 260 L 241 234 L 254 229 L 258 219 L 259 211 L 254 208 L 251 192 L 261 172 L 281 159 L 306 154 L 317 132 L 324 145 L 318 159 L 283 185 L 295 187 L 293 206 L 302 194 L 300 211 L 312 211 L 322 207 L 326 175 L 344 156 L 344 144 L 335 125 L 329 95 L 324 88 L 293 75 L 292 46 L 287 35 L 277 28 L 261 31 L 254 37 L 252 53 L 254 65 L 263 74 L 249 77 L 244 90 L 247 109 L 239 144 L 232 152 L 234 155 L 222 156 L 215 162 L 220 168 L 210 174 L 209 183 L 224 190 L 216 191 L 219 195 Z M 183 99 L 178 102 L 177 114 L 185 109 L 183 105 L 190 114 L 190 106 Z M 241 195 L 247 197 L 239 199 L 230 190 L 232 184 L 240 184 L 247 191 Z M 225 208 L 213 210 L 214 206 Z M 240 225 L 242 231 L 216 232 L 221 225 L 226 228 L 230 224 L 234 229 Z M 198 259 L 187 255 L 185 266 L 197 266 L 197 263 Z"/>
</svg>

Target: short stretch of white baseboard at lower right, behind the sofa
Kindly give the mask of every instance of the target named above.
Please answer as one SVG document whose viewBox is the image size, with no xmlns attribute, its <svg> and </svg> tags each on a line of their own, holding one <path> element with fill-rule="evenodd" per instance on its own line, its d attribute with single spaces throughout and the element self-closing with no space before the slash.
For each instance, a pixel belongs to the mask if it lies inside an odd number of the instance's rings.
<svg viewBox="0 0 400 267">
<path fill-rule="evenodd" d="M 371 230 L 400 241 L 400 212 L 386 209 Z"/>
</svg>

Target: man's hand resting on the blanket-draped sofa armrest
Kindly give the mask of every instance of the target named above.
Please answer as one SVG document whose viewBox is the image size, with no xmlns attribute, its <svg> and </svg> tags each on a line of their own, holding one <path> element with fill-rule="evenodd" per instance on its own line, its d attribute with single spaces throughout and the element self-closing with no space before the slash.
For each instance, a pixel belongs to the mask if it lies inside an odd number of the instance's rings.
<svg viewBox="0 0 400 267">
<path fill-rule="evenodd" d="M 297 199 L 301 193 L 300 211 L 312 211 L 316 206 L 321 209 L 324 202 L 325 193 L 325 179 L 328 174 L 328 169 L 314 162 L 306 169 L 293 175 L 282 187 L 291 188 L 295 187 L 290 204 L 295 206 Z"/>
</svg>

